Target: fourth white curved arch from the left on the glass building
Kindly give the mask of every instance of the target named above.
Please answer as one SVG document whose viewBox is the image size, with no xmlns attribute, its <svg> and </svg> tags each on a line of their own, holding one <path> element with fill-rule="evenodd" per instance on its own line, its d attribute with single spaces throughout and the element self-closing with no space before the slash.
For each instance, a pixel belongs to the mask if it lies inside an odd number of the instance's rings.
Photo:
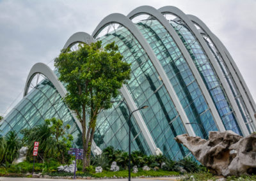
<svg viewBox="0 0 256 181">
<path fill-rule="evenodd" d="M 180 40 L 180 38 L 177 35 L 175 29 L 173 29 L 172 25 L 169 24 L 169 22 L 166 20 L 166 18 L 164 18 L 163 15 L 158 10 L 156 10 L 156 8 L 153 8 L 152 6 L 140 6 L 136 9 L 132 10 L 127 15 L 127 17 L 132 19 L 132 18 L 134 18 L 138 15 L 141 15 L 141 14 L 147 14 L 147 15 L 150 15 L 150 16 L 156 18 L 156 20 L 158 22 L 160 22 L 160 24 L 163 25 L 163 27 L 166 29 L 166 31 L 168 31 L 170 36 L 173 38 L 173 41 L 176 43 L 177 47 L 179 48 L 179 50 L 180 50 L 181 54 L 183 55 L 184 59 L 188 63 L 188 66 L 191 69 L 191 71 L 192 71 L 192 73 L 195 77 L 195 80 L 198 83 L 198 85 L 199 85 L 199 87 L 200 87 L 200 89 L 203 93 L 205 101 L 209 105 L 209 109 L 212 112 L 212 117 L 214 117 L 214 121 L 216 123 L 216 126 L 218 127 L 219 131 L 221 131 L 221 132 L 225 131 L 225 127 L 223 126 L 223 123 L 221 122 L 220 115 L 218 114 L 216 106 L 214 105 L 214 103 L 212 101 L 211 95 L 207 91 L 204 80 L 200 76 L 200 73 L 199 73 L 198 69 L 196 68 L 195 64 L 193 63 L 193 60 L 191 59 L 190 55 L 188 54 L 188 50 L 186 49 L 186 47 L 184 46 L 184 44 Z M 170 80 L 169 80 L 169 82 L 170 82 Z"/>
</svg>

